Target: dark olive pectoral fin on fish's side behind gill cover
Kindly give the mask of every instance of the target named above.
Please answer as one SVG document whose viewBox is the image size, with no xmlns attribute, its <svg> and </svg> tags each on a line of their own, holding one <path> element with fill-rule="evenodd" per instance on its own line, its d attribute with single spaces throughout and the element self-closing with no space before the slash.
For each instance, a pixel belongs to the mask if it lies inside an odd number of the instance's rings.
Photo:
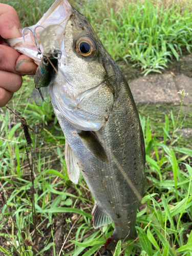
<svg viewBox="0 0 192 256">
<path fill-rule="evenodd" d="M 109 157 L 101 145 L 100 141 L 93 132 L 82 131 L 78 133 L 83 145 L 94 155 L 98 160 L 108 163 Z"/>
</svg>

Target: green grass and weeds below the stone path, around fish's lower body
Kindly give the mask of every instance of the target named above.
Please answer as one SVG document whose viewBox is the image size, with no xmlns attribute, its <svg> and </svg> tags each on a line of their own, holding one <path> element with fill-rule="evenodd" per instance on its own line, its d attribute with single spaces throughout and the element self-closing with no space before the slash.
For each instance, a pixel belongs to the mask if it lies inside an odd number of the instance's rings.
<svg viewBox="0 0 192 256">
<path fill-rule="evenodd" d="M 31 79 L 25 82 L 32 87 Z M 68 179 L 63 153 L 65 138 L 51 104 L 37 107 L 34 102 L 27 103 L 25 97 L 25 93 L 15 95 L 9 107 L 25 117 L 41 137 L 30 130 L 32 144 L 26 147 L 20 119 L 2 109 L 0 255 L 58 255 L 62 243 L 58 248 L 56 223 L 62 226 L 62 239 L 63 236 L 67 239 L 63 246 L 67 248 L 60 255 L 99 255 L 98 250 L 102 252 L 105 238 L 111 236 L 114 225 L 102 227 L 102 232 L 93 228 L 94 199 L 82 176 L 77 185 Z M 167 115 L 161 114 L 157 127 L 154 121 L 157 113 L 145 110 L 140 111 L 140 120 L 146 145 L 146 176 L 153 183 L 146 187 L 138 210 L 138 240 L 118 244 L 115 255 L 189 256 L 192 255 L 192 150 L 180 145 L 177 130 L 184 124 L 183 114 L 180 112 L 178 116 L 175 111 L 167 110 Z"/>
</svg>

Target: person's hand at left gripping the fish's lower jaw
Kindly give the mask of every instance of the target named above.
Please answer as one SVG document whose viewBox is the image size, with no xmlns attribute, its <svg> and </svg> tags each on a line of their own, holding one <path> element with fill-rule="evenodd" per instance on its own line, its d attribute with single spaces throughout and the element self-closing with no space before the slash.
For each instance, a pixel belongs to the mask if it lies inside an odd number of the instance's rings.
<svg viewBox="0 0 192 256">
<path fill-rule="evenodd" d="M 0 4 L 0 107 L 5 106 L 22 86 L 22 76 L 34 75 L 33 60 L 6 45 L 4 39 L 21 37 L 22 26 L 15 9 Z"/>
</svg>

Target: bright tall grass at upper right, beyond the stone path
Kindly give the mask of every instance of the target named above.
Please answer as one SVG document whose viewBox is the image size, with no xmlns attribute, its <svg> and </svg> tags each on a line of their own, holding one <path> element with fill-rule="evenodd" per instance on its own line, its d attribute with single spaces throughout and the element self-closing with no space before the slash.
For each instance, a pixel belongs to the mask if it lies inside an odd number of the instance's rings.
<svg viewBox="0 0 192 256">
<path fill-rule="evenodd" d="M 174 57 L 178 60 L 183 50 L 191 51 L 192 15 L 186 2 L 168 9 L 163 3 L 149 0 L 120 2 L 114 8 L 118 11 L 111 8 L 105 12 L 100 24 L 96 3 L 95 9 L 86 9 L 87 16 L 91 24 L 97 24 L 99 37 L 115 60 L 133 62 L 146 75 L 152 71 L 161 73 L 168 61 Z"/>
</svg>

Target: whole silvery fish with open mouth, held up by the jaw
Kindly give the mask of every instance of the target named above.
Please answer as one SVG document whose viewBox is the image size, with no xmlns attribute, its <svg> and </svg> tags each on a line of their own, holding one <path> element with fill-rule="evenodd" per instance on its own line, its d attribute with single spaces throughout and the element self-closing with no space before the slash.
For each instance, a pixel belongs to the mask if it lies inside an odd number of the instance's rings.
<svg viewBox="0 0 192 256">
<path fill-rule="evenodd" d="M 66 138 L 70 180 L 80 172 L 94 199 L 95 228 L 114 222 L 105 242 L 137 237 L 136 216 L 145 187 L 145 146 L 131 90 L 120 67 L 102 45 L 88 19 L 67 0 L 56 0 L 36 25 L 64 29 L 58 74 L 50 84 L 55 115 Z M 36 28 L 40 44 L 42 28 Z M 49 42 L 49 38 L 47 38 Z M 11 47 L 39 65 L 32 33 L 9 40 Z"/>
</svg>

